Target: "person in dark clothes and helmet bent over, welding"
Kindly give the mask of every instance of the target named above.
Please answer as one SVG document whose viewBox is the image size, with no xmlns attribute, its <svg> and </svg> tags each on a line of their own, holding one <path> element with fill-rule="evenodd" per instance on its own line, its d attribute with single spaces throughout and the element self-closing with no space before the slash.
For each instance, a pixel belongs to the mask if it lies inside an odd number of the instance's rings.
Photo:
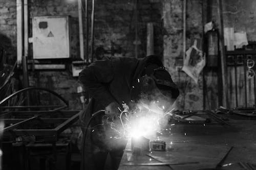
<svg viewBox="0 0 256 170">
<path fill-rule="evenodd" d="M 115 120 L 122 104 L 132 106 L 139 101 L 161 100 L 167 110 L 179 95 L 176 84 L 157 56 L 95 61 L 80 72 L 79 81 L 92 96 L 80 117 L 83 134 L 88 119 L 92 119 L 90 133 L 83 135 L 81 169 L 104 169 L 108 154 L 111 168 L 118 169 L 126 140 L 112 137 L 115 132 L 104 126 L 103 116 Z M 98 110 L 104 110 L 104 115 L 97 114 L 92 118 Z"/>
</svg>

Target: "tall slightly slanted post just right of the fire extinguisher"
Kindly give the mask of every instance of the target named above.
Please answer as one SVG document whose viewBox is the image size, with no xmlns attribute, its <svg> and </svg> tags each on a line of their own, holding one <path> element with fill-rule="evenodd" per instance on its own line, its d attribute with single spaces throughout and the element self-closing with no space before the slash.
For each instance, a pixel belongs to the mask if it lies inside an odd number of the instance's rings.
<svg viewBox="0 0 256 170">
<path fill-rule="evenodd" d="M 223 28 L 223 16 L 222 16 L 222 1 L 217 1 L 218 5 L 218 16 L 220 22 L 220 54 L 221 54 L 221 73 L 222 73 L 222 94 L 223 102 L 222 105 L 229 108 L 228 103 L 228 90 L 227 90 L 227 65 L 226 65 L 226 53 L 224 47 L 224 28 Z"/>
</svg>

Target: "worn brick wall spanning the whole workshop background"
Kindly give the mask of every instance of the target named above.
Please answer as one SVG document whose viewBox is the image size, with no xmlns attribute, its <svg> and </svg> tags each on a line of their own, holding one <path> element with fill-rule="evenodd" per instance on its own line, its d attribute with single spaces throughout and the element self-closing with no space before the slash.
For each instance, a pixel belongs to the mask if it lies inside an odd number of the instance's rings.
<svg viewBox="0 0 256 170">
<path fill-rule="evenodd" d="M 146 52 L 146 22 L 154 23 L 155 52 L 163 56 L 165 66 L 172 73 L 178 84 L 181 95 L 177 101 L 177 108 L 202 109 L 203 92 L 202 76 L 195 84 L 183 71 L 182 66 L 182 2 L 178 0 L 144 0 L 138 1 L 138 37 L 140 40 L 139 57 Z M 200 0 L 187 1 L 187 47 L 190 40 L 202 36 L 201 4 Z M 215 2 L 215 1 L 214 1 Z M 246 31 L 248 39 L 255 41 L 256 30 L 254 21 L 255 2 L 223 1 L 224 27 L 234 27 L 235 31 Z M 105 51 L 114 56 L 135 56 L 135 1 L 104 1 L 95 0 L 95 47 L 102 46 Z M 91 5 L 89 4 L 89 7 Z M 90 7 L 91 8 L 91 7 Z M 217 6 L 212 4 L 212 13 L 217 18 Z M 91 10 L 91 9 L 89 9 Z M 35 15 L 70 15 L 75 22 L 72 24 L 72 57 L 79 56 L 78 42 L 78 11 L 76 0 L 29 0 L 30 17 Z M 89 11 L 90 13 L 90 11 Z M 83 18 L 84 19 L 84 18 Z M 74 31 L 76 30 L 76 31 Z M 29 30 L 31 34 L 31 29 Z M 16 59 L 16 1 L 0 1 L 0 38 L 1 44 L 7 50 L 8 60 Z M 212 106 L 217 107 L 216 74 L 206 75 L 209 96 Z M 52 88 L 70 101 L 72 109 L 81 108 L 76 94 L 77 78 L 71 72 L 65 71 L 35 71 L 31 72 L 32 86 Z M 214 102 L 215 101 L 215 102 Z M 207 106 L 207 105 L 206 105 Z"/>
</svg>

